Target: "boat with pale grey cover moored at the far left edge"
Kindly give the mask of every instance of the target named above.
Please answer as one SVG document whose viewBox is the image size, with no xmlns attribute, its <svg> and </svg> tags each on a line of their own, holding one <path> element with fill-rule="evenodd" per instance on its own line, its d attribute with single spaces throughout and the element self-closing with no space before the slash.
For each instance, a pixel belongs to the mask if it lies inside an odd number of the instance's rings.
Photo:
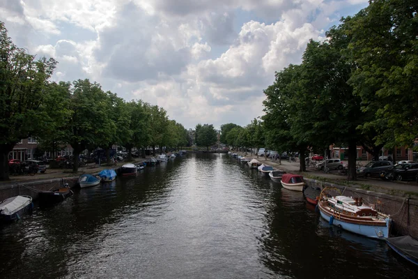
<svg viewBox="0 0 418 279">
<path fill-rule="evenodd" d="M 0 203 L 1 222 L 19 220 L 20 216 L 33 209 L 32 197 L 27 195 L 9 197 Z"/>
</svg>

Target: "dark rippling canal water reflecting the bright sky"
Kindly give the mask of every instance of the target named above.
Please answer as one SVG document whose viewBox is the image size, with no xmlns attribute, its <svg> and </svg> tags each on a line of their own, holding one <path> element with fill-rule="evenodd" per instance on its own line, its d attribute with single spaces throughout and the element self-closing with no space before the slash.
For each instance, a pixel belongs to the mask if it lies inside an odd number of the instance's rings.
<svg viewBox="0 0 418 279">
<path fill-rule="evenodd" d="M 0 278 L 417 278 L 384 241 L 227 154 L 189 154 L 0 228 Z"/>
</svg>

